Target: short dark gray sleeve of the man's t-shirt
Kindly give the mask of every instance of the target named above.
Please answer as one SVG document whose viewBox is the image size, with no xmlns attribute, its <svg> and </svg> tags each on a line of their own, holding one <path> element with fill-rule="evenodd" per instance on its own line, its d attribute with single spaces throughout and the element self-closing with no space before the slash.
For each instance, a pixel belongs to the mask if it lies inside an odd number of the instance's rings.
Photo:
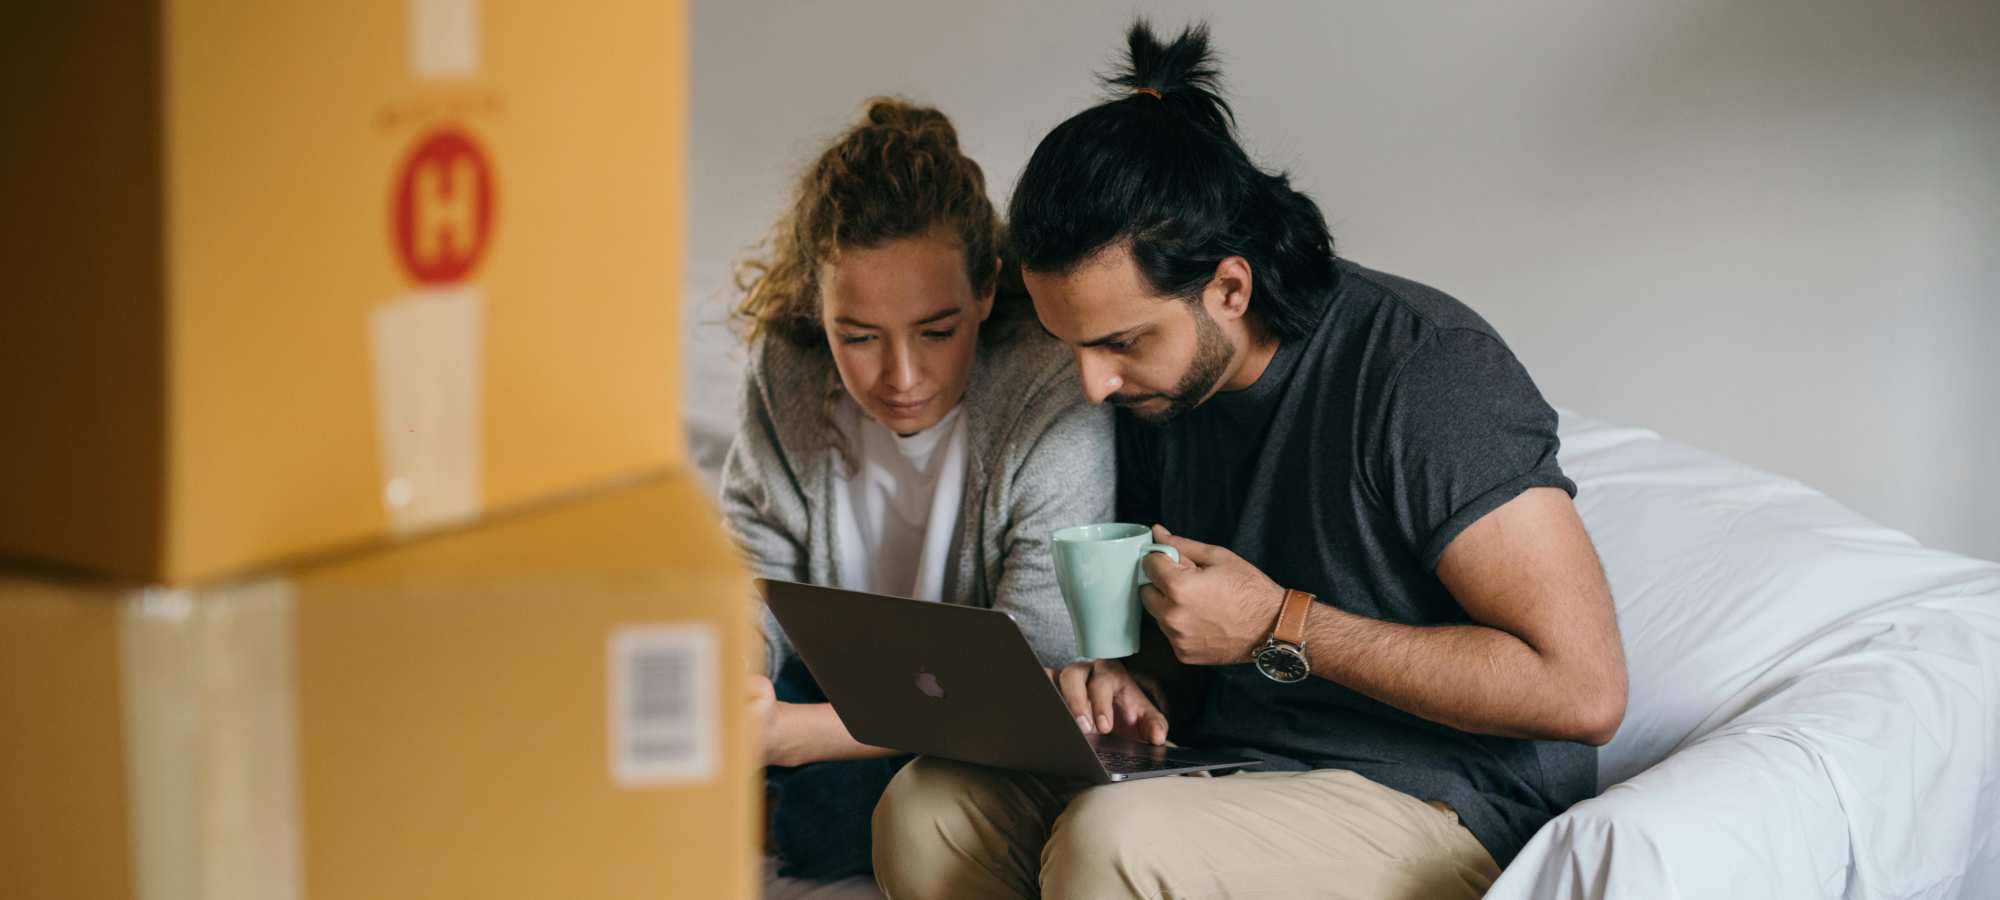
<svg viewBox="0 0 2000 900">
<path fill-rule="evenodd" d="M 1514 352 L 1472 328 L 1434 332 L 1390 382 L 1364 448 L 1368 490 L 1424 568 L 1528 488 L 1576 482 L 1556 464 L 1556 410 Z"/>
</svg>

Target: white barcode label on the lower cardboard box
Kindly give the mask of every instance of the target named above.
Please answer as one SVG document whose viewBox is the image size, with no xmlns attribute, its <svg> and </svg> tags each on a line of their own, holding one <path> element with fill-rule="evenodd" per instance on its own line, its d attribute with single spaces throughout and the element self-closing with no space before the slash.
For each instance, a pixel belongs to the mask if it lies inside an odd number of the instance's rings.
<svg viewBox="0 0 2000 900">
<path fill-rule="evenodd" d="M 706 624 L 626 626 L 610 638 L 612 780 L 674 784 L 714 776 L 716 632 Z"/>
</svg>

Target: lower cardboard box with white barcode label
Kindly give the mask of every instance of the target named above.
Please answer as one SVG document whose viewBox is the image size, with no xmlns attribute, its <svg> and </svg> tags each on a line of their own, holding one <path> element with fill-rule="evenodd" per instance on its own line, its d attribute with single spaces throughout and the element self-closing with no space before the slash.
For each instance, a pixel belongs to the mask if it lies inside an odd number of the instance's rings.
<svg viewBox="0 0 2000 900">
<path fill-rule="evenodd" d="M 204 588 L 0 576 L 0 896 L 754 896 L 760 644 L 702 494 Z"/>
</svg>

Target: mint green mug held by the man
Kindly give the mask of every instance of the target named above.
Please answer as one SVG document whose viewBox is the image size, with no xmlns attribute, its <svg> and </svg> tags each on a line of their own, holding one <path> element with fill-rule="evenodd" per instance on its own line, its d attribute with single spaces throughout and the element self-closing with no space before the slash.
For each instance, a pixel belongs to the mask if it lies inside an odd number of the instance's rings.
<svg viewBox="0 0 2000 900">
<path fill-rule="evenodd" d="M 1108 522 L 1064 528 L 1054 534 L 1056 586 L 1076 626 L 1076 648 L 1090 660 L 1138 652 L 1138 586 L 1152 584 L 1138 562 L 1166 554 L 1180 564 L 1180 550 L 1152 542 L 1152 528 Z"/>
</svg>

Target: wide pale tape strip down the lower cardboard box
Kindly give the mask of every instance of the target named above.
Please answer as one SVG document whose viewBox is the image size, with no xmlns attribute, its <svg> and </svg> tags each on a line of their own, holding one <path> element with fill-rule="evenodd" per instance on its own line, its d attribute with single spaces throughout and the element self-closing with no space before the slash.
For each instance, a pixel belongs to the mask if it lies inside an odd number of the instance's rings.
<svg viewBox="0 0 2000 900">
<path fill-rule="evenodd" d="M 304 896 L 292 606 L 282 578 L 124 602 L 138 900 Z"/>
</svg>

